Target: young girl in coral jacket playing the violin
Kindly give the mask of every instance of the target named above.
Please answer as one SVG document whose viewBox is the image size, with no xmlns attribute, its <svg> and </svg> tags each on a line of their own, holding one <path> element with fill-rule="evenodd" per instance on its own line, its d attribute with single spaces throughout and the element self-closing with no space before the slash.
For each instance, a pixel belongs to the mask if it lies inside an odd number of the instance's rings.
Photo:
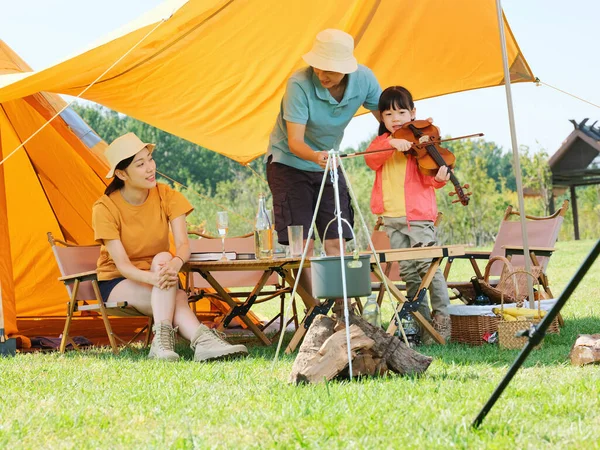
<svg viewBox="0 0 600 450">
<path fill-rule="evenodd" d="M 383 217 L 392 248 L 432 245 L 436 241 L 433 225 L 437 216 L 435 189 L 443 187 L 450 178 L 448 168 L 440 167 L 435 177 L 421 174 L 415 158 L 407 153 L 412 142 L 393 138 L 394 131 L 415 119 L 415 105 L 407 89 L 391 86 L 384 90 L 379 97 L 379 112 L 379 135 L 371 142 L 367 152 L 390 147 L 396 151 L 365 155 L 367 165 L 376 171 L 371 192 L 371 211 Z M 409 297 L 417 293 L 428 268 L 429 262 L 425 260 L 400 262 L 400 273 L 406 282 Z M 439 269 L 431 282 L 430 296 L 433 320 L 426 302 L 419 306 L 419 311 L 448 340 L 450 299 L 446 280 Z"/>
</svg>

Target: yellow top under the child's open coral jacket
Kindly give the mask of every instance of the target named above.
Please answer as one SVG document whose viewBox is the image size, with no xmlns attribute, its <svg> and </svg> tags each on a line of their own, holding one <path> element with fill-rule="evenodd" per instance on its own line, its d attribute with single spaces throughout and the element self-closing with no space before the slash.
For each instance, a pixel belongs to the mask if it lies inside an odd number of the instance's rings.
<svg viewBox="0 0 600 450">
<path fill-rule="evenodd" d="M 383 191 L 383 213 L 385 217 L 406 216 L 404 200 L 404 179 L 406 178 L 406 155 L 394 152 L 386 160 L 381 172 L 381 188 Z"/>
</svg>

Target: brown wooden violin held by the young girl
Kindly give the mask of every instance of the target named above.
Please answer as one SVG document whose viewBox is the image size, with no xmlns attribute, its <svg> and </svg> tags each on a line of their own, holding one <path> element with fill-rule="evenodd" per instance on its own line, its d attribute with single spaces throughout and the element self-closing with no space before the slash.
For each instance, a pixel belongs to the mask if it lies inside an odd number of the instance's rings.
<svg viewBox="0 0 600 450">
<path fill-rule="evenodd" d="M 394 139 L 405 139 L 413 143 L 407 153 L 415 156 L 419 171 L 423 175 L 435 176 L 440 167 L 448 167 L 450 181 L 455 188 L 450 196 L 458 195 L 458 200 L 454 200 L 452 203 L 460 202 L 463 206 L 469 204 L 469 196 L 472 195 L 472 192 L 465 192 L 464 189 L 469 189 L 469 185 L 461 186 L 454 175 L 452 169 L 456 157 L 450 150 L 439 145 L 441 142 L 440 133 L 436 126 L 428 120 L 413 120 L 394 131 L 392 137 Z"/>
</svg>

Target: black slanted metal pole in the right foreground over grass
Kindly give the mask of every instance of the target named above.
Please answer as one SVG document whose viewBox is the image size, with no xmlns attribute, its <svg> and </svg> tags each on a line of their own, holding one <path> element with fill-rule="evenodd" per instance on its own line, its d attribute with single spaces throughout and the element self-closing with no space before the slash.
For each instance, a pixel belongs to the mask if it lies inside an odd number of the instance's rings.
<svg viewBox="0 0 600 450">
<path fill-rule="evenodd" d="M 477 418 L 473 421 L 473 424 L 471 425 L 473 428 L 479 428 L 479 425 L 481 425 L 481 422 L 483 422 L 483 419 L 485 419 L 487 413 L 490 412 L 490 410 L 496 403 L 496 400 L 500 398 L 500 395 L 502 395 L 502 392 L 504 392 L 506 386 L 508 386 L 508 384 L 515 376 L 523 362 L 527 359 L 527 356 L 529 356 L 531 350 L 533 350 L 534 347 L 538 345 L 542 341 L 542 339 L 544 339 L 544 336 L 546 335 L 546 330 L 550 326 L 550 323 L 552 323 L 552 321 L 558 315 L 564 304 L 567 302 L 567 299 L 571 296 L 581 279 L 585 276 L 590 267 L 592 267 L 592 264 L 598 257 L 598 254 L 600 254 L 600 239 L 596 242 L 596 245 L 594 246 L 592 251 L 585 258 L 583 264 L 581 264 L 579 269 L 577 269 L 577 272 L 575 272 L 575 275 L 573 275 L 573 278 L 571 278 L 569 284 L 567 284 L 564 291 L 560 294 L 560 296 L 556 300 L 556 304 L 552 307 L 550 311 L 548 311 L 548 314 L 544 316 L 544 319 L 537 326 L 531 327 L 530 330 L 524 332 L 524 335 L 529 339 L 529 341 L 527 342 L 525 347 L 523 347 L 523 350 L 521 350 L 521 353 L 519 353 L 519 356 L 517 357 L 513 365 L 510 367 L 510 369 L 508 369 L 506 376 L 500 382 L 500 384 L 493 392 L 492 396 L 487 401 L 485 406 L 481 409 L 481 411 L 477 415 Z"/>
</svg>

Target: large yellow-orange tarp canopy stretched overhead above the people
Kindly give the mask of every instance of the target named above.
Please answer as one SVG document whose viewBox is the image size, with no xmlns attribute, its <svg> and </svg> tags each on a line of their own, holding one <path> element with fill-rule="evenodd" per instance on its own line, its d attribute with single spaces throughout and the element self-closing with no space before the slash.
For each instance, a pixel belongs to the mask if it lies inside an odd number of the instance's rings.
<svg viewBox="0 0 600 450">
<path fill-rule="evenodd" d="M 504 27 L 511 81 L 533 81 Z M 503 83 L 494 0 L 170 0 L 73 58 L 0 80 L 0 101 L 77 95 L 119 61 L 82 97 L 247 163 L 325 28 L 351 33 L 381 85 L 416 99 Z"/>
</svg>

